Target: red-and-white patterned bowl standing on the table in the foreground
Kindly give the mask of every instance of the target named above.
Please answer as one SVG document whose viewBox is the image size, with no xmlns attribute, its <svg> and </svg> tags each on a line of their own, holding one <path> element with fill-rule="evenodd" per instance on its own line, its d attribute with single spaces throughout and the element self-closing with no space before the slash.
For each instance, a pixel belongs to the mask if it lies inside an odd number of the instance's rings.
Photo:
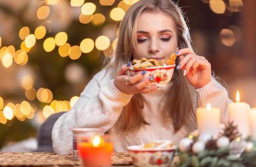
<svg viewBox="0 0 256 167">
<path fill-rule="evenodd" d="M 150 145 L 157 145 L 150 147 Z M 147 146 L 146 146 L 147 145 Z M 159 140 L 127 147 L 132 163 L 137 167 L 168 167 L 173 161 L 176 146 L 169 140 Z"/>
</svg>

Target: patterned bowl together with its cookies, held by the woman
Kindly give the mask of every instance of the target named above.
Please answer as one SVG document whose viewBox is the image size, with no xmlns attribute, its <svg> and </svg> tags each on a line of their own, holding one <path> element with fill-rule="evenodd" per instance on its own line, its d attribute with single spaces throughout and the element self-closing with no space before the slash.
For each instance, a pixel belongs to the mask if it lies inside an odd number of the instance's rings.
<svg viewBox="0 0 256 167">
<path fill-rule="evenodd" d="M 159 87 L 166 86 L 173 76 L 173 71 L 175 68 L 175 59 L 177 55 L 173 53 L 170 56 L 170 59 L 166 61 L 166 64 L 158 62 L 156 59 L 146 59 L 142 58 L 141 60 L 133 60 L 132 66 L 129 68 L 130 76 L 134 76 L 137 73 L 141 73 L 146 70 L 146 74 L 142 79 L 147 79 L 148 77 L 154 77 L 154 80 L 151 81 L 146 87 L 150 87 L 153 84 L 159 84 Z"/>
</svg>

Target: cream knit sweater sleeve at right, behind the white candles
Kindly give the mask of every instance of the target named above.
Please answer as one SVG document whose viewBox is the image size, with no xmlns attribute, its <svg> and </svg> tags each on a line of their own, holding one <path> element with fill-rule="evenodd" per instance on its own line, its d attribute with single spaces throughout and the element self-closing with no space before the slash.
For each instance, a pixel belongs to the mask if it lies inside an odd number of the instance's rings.
<svg viewBox="0 0 256 167">
<path fill-rule="evenodd" d="M 206 107 L 207 103 L 211 104 L 211 107 L 220 108 L 220 122 L 228 122 L 227 107 L 232 101 L 228 98 L 227 90 L 220 86 L 214 79 L 212 79 L 206 86 L 196 89 L 197 106 Z"/>
</svg>

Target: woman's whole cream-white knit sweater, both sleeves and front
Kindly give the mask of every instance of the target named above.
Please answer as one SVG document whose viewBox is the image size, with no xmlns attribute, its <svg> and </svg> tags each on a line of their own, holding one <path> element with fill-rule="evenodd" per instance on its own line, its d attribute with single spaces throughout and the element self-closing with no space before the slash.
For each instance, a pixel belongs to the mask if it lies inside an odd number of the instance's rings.
<svg viewBox="0 0 256 167">
<path fill-rule="evenodd" d="M 182 127 L 173 133 L 173 127 L 166 127 L 159 114 L 161 91 L 168 86 L 143 94 L 146 99 L 144 105 L 145 120 L 150 123 L 141 127 L 139 131 L 124 134 L 119 133 L 116 123 L 122 108 L 128 104 L 132 95 L 118 90 L 112 77 L 112 69 L 103 69 L 97 73 L 85 87 L 74 107 L 63 114 L 54 124 L 52 130 L 53 148 L 56 154 L 72 154 L 72 129 L 79 127 L 101 127 L 110 132 L 115 138 L 115 152 L 125 152 L 128 145 L 140 145 L 158 139 L 172 140 L 175 145 L 189 132 L 195 130 L 196 123 L 191 121 L 190 127 Z M 105 75 L 106 74 L 106 75 Z M 194 91 L 196 106 L 218 107 L 221 111 L 221 122 L 227 123 L 227 105 L 231 103 L 225 88 L 217 86 L 211 81 L 206 86 Z"/>
</svg>

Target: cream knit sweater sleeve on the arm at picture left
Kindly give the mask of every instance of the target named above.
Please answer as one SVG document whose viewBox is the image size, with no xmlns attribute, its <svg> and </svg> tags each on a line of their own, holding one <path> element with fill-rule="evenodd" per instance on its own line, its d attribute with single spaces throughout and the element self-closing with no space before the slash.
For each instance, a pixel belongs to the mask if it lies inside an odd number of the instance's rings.
<svg viewBox="0 0 256 167">
<path fill-rule="evenodd" d="M 85 87 L 74 107 L 54 124 L 52 144 L 56 154 L 72 154 L 72 129 L 100 127 L 106 131 L 115 124 L 132 95 L 118 90 L 112 70 L 97 73 Z"/>
</svg>

